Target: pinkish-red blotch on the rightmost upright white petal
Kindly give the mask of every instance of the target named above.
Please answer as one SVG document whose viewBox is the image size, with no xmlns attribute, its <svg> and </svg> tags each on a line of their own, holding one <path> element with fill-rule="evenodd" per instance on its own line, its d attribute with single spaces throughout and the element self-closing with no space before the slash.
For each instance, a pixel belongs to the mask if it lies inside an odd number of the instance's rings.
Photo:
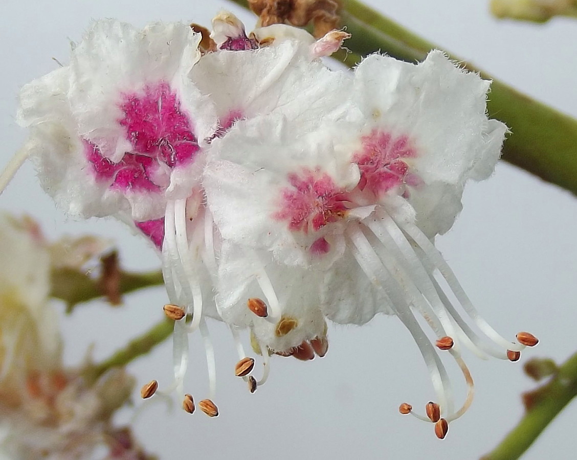
<svg viewBox="0 0 577 460">
<path fill-rule="evenodd" d="M 415 157 L 406 136 L 393 138 L 391 134 L 373 129 L 361 138 L 362 152 L 353 161 L 361 171 L 358 187 L 368 189 L 375 195 L 386 193 L 401 184 L 415 186 L 418 176 L 409 172 L 409 165 L 402 159 Z"/>
</svg>

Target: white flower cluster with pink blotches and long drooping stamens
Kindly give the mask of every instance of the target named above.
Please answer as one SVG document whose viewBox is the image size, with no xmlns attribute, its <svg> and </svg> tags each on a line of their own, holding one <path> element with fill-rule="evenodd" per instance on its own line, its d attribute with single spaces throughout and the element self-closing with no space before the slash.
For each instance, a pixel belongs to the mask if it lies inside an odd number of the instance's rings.
<svg viewBox="0 0 577 460">
<path fill-rule="evenodd" d="M 418 65 L 374 54 L 353 72 L 329 70 L 321 58 L 346 39 L 338 31 L 247 35 L 222 12 L 207 32 L 96 21 L 68 66 L 24 86 L 18 119 L 44 189 L 68 213 L 117 216 L 158 248 L 175 319 L 166 391 L 184 393 L 198 329 L 211 382 L 199 406 L 218 414 L 207 317 L 230 326 L 236 374 L 254 391 L 269 355 L 324 356 L 326 319 L 396 315 L 437 393 L 439 416 L 422 418 L 443 437 L 472 397 L 460 345 L 518 359 L 533 337 L 501 338 L 433 244 L 467 180 L 487 178 L 499 158 L 507 127 L 486 117 L 489 82 L 439 51 Z M 243 330 L 263 356 L 260 380 Z M 434 340 L 470 386 L 459 409 Z M 190 394 L 183 406 L 194 410 Z"/>
</svg>

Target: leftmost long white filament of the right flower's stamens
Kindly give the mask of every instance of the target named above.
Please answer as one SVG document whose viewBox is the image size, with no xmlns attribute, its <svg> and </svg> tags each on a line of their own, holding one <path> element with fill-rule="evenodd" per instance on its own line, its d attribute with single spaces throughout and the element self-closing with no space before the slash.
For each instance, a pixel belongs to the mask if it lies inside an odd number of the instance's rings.
<svg viewBox="0 0 577 460">
<path fill-rule="evenodd" d="M 443 363 L 441 363 L 439 356 L 437 356 L 437 353 L 433 349 L 433 346 L 430 344 L 429 339 L 422 331 L 421 326 L 419 326 L 419 323 L 410 311 L 409 306 L 404 303 L 404 301 L 400 304 L 396 304 L 389 298 L 388 292 L 385 290 L 382 282 L 387 280 L 390 276 L 359 227 L 351 226 L 347 228 L 347 236 L 354 245 L 355 250 L 353 251 L 353 254 L 355 259 L 357 259 L 359 266 L 377 288 L 383 289 L 385 299 L 388 300 L 388 303 L 394 309 L 395 314 L 407 327 L 411 335 L 413 335 L 415 343 L 417 344 L 419 351 L 425 360 L 425 364 L 429 369 L 431 382 L 437 394 L 439 405 L 441 408 L 448 409 L 449 412 L 452 412 L 452 409 L 449 409 L 449 405 L 452 408 L 453 403 L 447 371 L 445 370 Z M 399 308 L 398 306 L 402 307 Z M 451 402 L 449 402 L 449 399 Z"/>
</svg>

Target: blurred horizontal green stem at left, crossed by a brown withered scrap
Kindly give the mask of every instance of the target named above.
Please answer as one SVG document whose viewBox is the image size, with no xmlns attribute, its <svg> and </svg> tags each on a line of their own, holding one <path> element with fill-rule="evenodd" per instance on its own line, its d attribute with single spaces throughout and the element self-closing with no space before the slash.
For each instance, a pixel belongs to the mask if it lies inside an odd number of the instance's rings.
<svg viewBox="0 0 577 460">
<path fill-rule="evenodd" d="M 137 289 L 164 284 L 161 272 L 130 273 L 121 272 L 119 292 L 129 293 Z M 67 311 L 81 302 L 97 299 L 103 296 L 98 280 L 94 280 L 84 272 L 74 269 L 57 269 L 52 273 L 51 297 L 66 302 Z"/>
</svg>

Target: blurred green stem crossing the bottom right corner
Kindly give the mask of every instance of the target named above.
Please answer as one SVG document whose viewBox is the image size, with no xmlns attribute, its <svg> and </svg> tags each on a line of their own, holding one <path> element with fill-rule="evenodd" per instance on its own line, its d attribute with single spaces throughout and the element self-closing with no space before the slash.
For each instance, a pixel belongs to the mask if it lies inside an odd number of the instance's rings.
<svg viewBox="0 0 577 460">
<path fill-rule="evenodd" d="M 481 460 L 519 458 L 575 396 L 577 396 L 577 353 L 559 367 L 559 371 L 549 383 L 524 395 L 524 402 L 529 406 L 527 412 L 499 446 Z"/>
</svg>

